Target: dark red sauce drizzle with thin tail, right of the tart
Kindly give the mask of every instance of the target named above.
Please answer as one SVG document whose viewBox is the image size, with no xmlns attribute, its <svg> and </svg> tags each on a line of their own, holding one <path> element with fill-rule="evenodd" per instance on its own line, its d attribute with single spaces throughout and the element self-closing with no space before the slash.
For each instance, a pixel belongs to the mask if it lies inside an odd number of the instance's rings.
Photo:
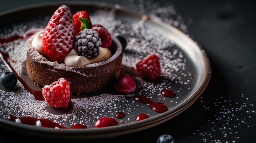
<svg viewBox="0 0 256 143">
<path fill-rule="evenodd" d="M 150 99 L 148 99 L 144 95 L 136 95 L 136 96 L 133 96 L 133 97 L 129 97 L 128 95 L 126 95 L 125 98 L 134 99 L 138 102 L 147 104 L 150 107 L 151 110 L 153 110 L 157 113 L 162 113 L 162 112 L 165 112 L 167 110 L 167 106 L 164 103 L 151 101 Z"/>
</svg>

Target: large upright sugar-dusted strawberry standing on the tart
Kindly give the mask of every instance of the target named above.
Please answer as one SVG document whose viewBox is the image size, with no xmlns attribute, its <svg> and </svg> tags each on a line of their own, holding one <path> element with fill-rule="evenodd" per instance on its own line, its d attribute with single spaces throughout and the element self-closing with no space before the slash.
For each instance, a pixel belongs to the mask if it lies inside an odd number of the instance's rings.
<svg viewBox="0 0 256 143">
<path fill-rule="evenodd" d="M 59 7 L 43 33 L 42 49 L 52 62 L 62 63 L 74 45 L 74 25 L 70 9 Z"/>
</svg>

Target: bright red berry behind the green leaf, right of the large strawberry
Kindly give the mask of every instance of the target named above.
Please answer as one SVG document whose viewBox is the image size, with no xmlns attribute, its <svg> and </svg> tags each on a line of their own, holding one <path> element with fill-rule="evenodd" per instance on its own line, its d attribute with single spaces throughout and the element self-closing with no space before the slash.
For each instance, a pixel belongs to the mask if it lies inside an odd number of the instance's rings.
<svg viewBox="0 0 256 143">
<path fill-rule="evenodd" d="M 90 24 L 92 25 L 92 22 L 90 20 L 90 16 L 88 15 L 88 13 L 86 11 L 78 11 L 73 15 L 73 19 L 74 19 L 74 28 L 75 28 L 75 34 L 76 36 L 79 34 L 79 32 L 81 31 L 81 21 L 78 18 L 85 18 L 88 19 L 90 21 Z"/>
</svg>

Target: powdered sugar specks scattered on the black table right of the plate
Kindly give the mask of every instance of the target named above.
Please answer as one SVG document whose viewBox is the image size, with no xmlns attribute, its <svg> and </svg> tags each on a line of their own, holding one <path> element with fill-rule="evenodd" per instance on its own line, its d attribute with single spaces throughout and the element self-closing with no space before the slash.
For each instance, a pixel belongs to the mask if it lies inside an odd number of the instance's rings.
<svg viewBox="0 0 256 143">
<path fill-rule="evenodd" d="M 241 141 L 240 133 L 252 128 L 248 122 L 255 118 L 256 111 L 254 103 L 256 96 L 252 99 L 245 98 L 244 94 L 238 102 L 228 100 L 222 92 L 214 101 L 214 105 L 204 103 L 204 97 L 200 97 L 199 102 L 202 112 L 213 112 L 210 117 L 205 117 L 210 130 L 204 131 L 203 125 L 199 125 L 193 133 L 200 136 L 203 142 L 212 143 L 236 143 Z M 206 115 L 208 116 L 208 115 Z M 202 117 L 203 118 L 203 117 Z M 243 131 L 241 130 L 243 128 Z"/>
</svg>

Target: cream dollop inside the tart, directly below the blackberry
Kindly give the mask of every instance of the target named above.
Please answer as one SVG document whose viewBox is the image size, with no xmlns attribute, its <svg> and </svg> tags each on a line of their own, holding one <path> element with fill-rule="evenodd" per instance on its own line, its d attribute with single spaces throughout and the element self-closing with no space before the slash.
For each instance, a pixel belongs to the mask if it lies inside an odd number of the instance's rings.
<svg viewBox="0 0 256 143">
<path fill-rule="evenodd" d="M 88 64 L 98 63 L 109 59 L 112 56 L 111 51 L 108 48 L 100 48 L 99 54 L 93 59 L 87 59 L 84 56 L 76 53 L 74 49 L 72 49 L 65 57 L 64 63 L 74 67 L 81 67 Z"/>
</svg>

